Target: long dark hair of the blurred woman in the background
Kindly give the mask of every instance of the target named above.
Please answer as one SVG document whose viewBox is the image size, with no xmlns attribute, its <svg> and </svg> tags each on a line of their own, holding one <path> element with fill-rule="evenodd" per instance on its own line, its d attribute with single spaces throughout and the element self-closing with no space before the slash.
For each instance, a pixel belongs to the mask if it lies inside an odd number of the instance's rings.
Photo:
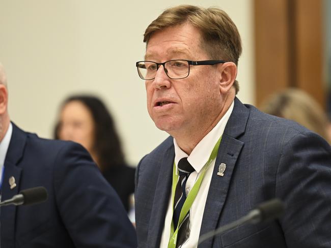
<svg viewBox="0 0 331 248">
<path fill-rule="evenodd" d="M 124 153 L 120 138 L 116 132 L 114 120 L 104 103 L 95 96 L 74 95 L 63 102 L 62 108 L 72 101 L 81 102 L 92 114 L 94 122 L 93 150 L 101 171 L 105 171 L 111 166 L 123 165 Z M 55 139 L 59 139 L 60 125 L 61 123 L 58 122 L 54 129 Z"/>
</svg>

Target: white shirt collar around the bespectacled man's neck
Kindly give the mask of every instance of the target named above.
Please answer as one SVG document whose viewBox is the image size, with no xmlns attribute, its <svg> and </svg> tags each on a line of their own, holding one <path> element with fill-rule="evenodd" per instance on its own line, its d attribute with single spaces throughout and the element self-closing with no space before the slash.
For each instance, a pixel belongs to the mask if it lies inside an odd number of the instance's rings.
<svg viewBox="0 0 331 248">
<path fill-rule="evenodd" d="M 189 156 L 178 146 L 176 139 L 174 139 L 176 171 L 179 160 L 185 157 L 188 157 L 187 161 L 198 173 L 201 171 L 201 169 L 207 163 L 217 140 L 221 135 L 223 135 L 233 107 L 234 101 L 232 102 L 225 115 L 218 121 L 216 126 L 205 137 L 203 137 L 203 139 L 196 145 Z"/>
</svg>

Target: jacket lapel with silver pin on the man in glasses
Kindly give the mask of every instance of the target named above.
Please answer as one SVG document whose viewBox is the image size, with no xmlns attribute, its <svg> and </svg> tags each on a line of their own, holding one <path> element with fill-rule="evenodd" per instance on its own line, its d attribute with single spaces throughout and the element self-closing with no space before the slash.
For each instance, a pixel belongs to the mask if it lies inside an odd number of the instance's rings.
<svg viewBox="0 0 331 248">
<path fill-rule="evenodd" d="M 228 194 L 232 173 L 244 144 L 236 138 L 244 133 L 248 117 L 249 110 L 236 98 L 234 109 L 219 145 L 203 213 L 200 235 L 215 230 L 217 227 L 219 215 L 222 212 Z M 226 164 L 223 177 L 217 175 L 221 163 Z M 212 241 L 213 238 L 206 240 L 199 245 L 199 248 L 212 247 Z"/>
</svg>

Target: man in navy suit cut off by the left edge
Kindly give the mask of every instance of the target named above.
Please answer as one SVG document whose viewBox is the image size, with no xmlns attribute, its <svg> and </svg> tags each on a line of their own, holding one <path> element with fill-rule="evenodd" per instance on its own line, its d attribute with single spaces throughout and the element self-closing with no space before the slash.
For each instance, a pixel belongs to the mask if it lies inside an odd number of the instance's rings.
<svg viewBox="0 0 331 248">
<path fill-rule="evenodd" d="M 2 248 L 136 247 L 136 234 L 113 188 L 79 144 L 26 133 L 10 122 L 0 65 L 1 199 L 43 186 L 48 199 L 0 209 Z"/>
</svg>

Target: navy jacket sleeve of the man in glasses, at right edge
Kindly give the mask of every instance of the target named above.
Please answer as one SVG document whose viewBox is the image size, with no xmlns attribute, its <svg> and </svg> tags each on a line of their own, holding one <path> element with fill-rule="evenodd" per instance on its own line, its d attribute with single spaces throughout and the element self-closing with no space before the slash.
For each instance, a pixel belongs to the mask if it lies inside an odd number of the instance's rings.
<svg viewBox="0 0 331 248">
<path fill-rule="evenodd" d="M 331 247 L 331 149 L 312 132 L 283 147 L 276 196 L 285 202 L 281 225 L 288 247 Z"/>
</svg>

